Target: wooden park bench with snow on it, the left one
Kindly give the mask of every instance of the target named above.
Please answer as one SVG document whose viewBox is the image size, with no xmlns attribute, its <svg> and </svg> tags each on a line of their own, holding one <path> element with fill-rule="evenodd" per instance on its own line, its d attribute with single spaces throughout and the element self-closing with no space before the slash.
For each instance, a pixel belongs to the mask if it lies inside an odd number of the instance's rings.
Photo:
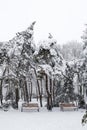
<svg viewBox="0 0 87 130">
<path fill-rule="evenodd" d="M 21 107 L 21 112 L 26 110 L 37 110 L 39 112 L 38 103 L 23 103 Z"/>
</svg>

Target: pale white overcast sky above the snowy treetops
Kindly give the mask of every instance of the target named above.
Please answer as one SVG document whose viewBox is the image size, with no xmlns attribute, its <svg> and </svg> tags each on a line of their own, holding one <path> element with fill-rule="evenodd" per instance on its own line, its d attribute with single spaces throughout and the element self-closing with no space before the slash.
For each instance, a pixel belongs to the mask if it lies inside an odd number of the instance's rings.
<svg viewBox="0 0 87 130">
<path fill-rule="evenodd" d="M 87 24 L 87 0 L 0 0 L 0 41 L 12 39 L 33 21 L 36 42 L 49 32 L 59 44 L 80 41 Z"/>
</svg>

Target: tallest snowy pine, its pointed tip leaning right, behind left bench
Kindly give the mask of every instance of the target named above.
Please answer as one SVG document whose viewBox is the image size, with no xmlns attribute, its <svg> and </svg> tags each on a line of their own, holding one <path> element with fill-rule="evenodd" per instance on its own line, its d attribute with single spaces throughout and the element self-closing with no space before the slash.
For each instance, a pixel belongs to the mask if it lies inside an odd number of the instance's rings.
<svg viewBox="0 0 87 130">
<path fill-rule="evenodd" d="M 33 53 L 35 51 L 35 44 L 33 40 L 34 24 L 35 22 L 33 22 L 26 31 L 17 34 L 17 37 L 22 37 L 23 39 L 22 49 L 20 53 L 20 61 L 18 64 L 18 73 L 21 77 L 20 79 L 24 81 L 24 100 L 27 102 L 29 101 L 27 76 L 29 77 L 31 75 L 30 69 L 31 65 L 33 64 Z"/>
</svg>

